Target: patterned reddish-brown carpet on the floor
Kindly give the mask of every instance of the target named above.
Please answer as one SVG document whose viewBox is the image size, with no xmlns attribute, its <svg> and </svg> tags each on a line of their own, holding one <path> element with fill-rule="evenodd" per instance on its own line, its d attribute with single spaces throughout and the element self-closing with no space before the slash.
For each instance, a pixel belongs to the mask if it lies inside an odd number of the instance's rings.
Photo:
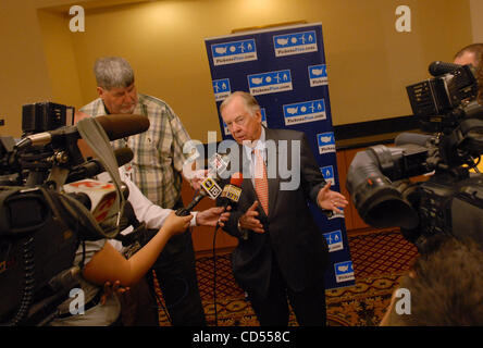
<svg viewBox="0 0 483 348">
<path fill-rule="evenodd" d="M 351 236 L 349 248 L 356 285 L 326 290 L 327 324 L 379 325 L 394 288 L 401 275 L 409 270 L 418 251 L 397 231 Z M 209 326 L 258 326 L 250 303 L 233 278 L 230 254 L 216 256 L 218 322 L 213 304 L 213 259 L 198 259 L 197 272 Z M 157 290 L 159 291 L 159 287 Z M 170 325 L 163 310 L 160 310 L 160 324 Z M 289 325 L 297 325 L 293 313 Z"/>
</svg>

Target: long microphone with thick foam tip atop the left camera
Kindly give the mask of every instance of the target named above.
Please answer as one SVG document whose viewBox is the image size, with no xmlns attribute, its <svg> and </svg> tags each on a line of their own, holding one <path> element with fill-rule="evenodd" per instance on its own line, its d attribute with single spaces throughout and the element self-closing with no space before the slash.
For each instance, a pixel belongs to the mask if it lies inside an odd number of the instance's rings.
<svg viewBox="0 0 483 348">
<path fill-rule="evenodd" d="M 109 140 L 125 138 L 135 134 L 148 130 L 149 119 L 136 114 L 111 114 L 97 116 L 96 121 L 104 129 Z M 78 139 L 76 126 L 63 126 L 54 130 L 42 132 L 23 138 L 17 145 L 17 149 L 28 146 L 44 146 L 51 142 L 64 141 L 66 138 Z"/>
</svg>

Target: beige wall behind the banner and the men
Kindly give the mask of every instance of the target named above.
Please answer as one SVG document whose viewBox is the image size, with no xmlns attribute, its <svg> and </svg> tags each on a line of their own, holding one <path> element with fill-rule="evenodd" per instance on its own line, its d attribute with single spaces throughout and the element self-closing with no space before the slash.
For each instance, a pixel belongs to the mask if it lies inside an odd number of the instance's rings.
<svg viewBox="0 0 483 348">
<path fill-rule="evenodd" d="M 138 90 L 169 102 L 205 142 L 207 130 L 219 133 L 205 38 L 299 20 L 322 23 L 335 125 L 405 115 L 405 86 L 426 78 L 431 61 L 450 61 L 478 27 L 474 0 L 407 0 L 412 32 L 405 34 L 395 29 L 396 0 L 113 1 L 75 2 L 86 8 L 85 33 L 69 30 L 69 1 L 0 2 L 0 34 L 11 44 L 11 55 L 0 57 L 2 134 L 20 134 L 23 103 L 79 108 L 96 98 L 95 59 L 123 55 Z"/>
</svg>

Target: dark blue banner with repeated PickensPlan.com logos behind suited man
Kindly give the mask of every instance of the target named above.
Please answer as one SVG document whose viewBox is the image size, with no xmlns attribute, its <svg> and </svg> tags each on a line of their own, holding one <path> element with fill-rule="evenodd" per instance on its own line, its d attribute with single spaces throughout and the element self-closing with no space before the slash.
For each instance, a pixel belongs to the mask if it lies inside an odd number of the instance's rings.
<svg viewBox="0 0 483 348">
<path fill-rule="evenodd" d="M 258 100 L 269 128 L 305 132 L 324 178 L 340 191 L 321 24 L 277 27 L 206 39 L 216 109 L 233 91 Z M 223 139 L 232 139 L 219 114 Z M 330 248 L 326 288 L 355 284 L 344 214 L 310 210 Z"/>
</svg>

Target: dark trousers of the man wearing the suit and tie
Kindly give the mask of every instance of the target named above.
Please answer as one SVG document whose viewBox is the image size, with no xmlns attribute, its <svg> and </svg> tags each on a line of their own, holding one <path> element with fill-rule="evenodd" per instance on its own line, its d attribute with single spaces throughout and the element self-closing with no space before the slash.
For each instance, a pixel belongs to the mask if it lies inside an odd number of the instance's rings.
<svg viewBox="0 0 483 348">
<path fill-rule="evenodd" d="M 325 326 L 325 287 L 323 279 L 302 291 L 293 291 L 287 287 L 278 264 L 273 257 L 269 294 L 257 298 L 248 294 L 251 307 L 260 326 L 287 326 L 288 301 L 300 326 Z"/>
</svg>

